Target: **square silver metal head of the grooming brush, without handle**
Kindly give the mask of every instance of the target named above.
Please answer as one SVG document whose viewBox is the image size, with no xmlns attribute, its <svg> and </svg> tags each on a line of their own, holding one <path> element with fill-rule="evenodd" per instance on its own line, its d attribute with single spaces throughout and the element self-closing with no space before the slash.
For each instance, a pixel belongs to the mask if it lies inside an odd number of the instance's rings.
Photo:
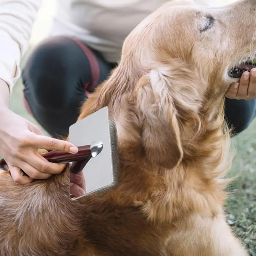
<svg viewBox="0 0 256 256">
<path fill-rule="evenodd" d="M 109 120 L 108 107 L 71 125 L 69 141 L 76 146 L 91 145 L 95 141 L 103 144 L 100 153 L 89 161 L 85 161 L 86 165 L 80 172 L 85 180 L 85 194 L 73 197 L 72 200 L 106 189 L 116 183 L 119 168 L 116 152 L 116 125 L 113 120 Z"/>
</svg>

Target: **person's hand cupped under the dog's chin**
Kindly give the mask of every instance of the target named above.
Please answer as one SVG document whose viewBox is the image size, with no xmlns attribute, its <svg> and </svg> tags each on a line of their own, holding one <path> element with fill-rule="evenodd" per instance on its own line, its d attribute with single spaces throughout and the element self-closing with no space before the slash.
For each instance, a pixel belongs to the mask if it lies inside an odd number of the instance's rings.
<svg viewBox="0 0 256 256">
<path fill-rule="evenodd" d="M 252 100 L 256 98 L 256 68 L 245 71 L 239 83 L 231 84 L 226 96 L 229 99 Z"/>
</svg>

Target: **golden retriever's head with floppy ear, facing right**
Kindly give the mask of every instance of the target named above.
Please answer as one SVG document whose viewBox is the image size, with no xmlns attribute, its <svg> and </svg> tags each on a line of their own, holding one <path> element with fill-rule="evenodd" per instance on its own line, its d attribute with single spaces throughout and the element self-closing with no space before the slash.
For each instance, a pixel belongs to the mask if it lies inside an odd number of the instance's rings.
<svg viewBox="0 0 256 256">
<path fill-rule="evenodd" d="M 252 0 L 211 9 L 164 4 L 126 38 L 91 109 L 109 106 L 120 143 L 137 142 L 148 161 L 174 168 L 203 124 L 220 129 L 234 68 L 254 57 L 255 8 Z"/>
</svg>

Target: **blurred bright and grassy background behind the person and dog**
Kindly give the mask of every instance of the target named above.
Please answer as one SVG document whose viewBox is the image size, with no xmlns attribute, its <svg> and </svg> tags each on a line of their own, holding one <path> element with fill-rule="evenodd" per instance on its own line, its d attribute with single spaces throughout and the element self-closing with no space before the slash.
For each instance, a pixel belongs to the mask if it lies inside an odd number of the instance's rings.
<svg viewBox="0 0 256 256">
<path fill-rule="evenodd" d="M 223 0 L 221 4 L 225 5 L 232 2 L 235 1 Z M 38 12 L 33 27 L 30 50 L 47 36 L 55 12 L 55 1 L 43 0 L 42 8 Z M 29 51 L 24 56 L 21 66 Z M 10 108 L 37 124 L 23 106 L 22 88 L 23 85 L 21 79 L 19 79 L 12 93 Z M 40 125 L 38 126 L 40 127 Z M 226 204 L 227 221 L 244 241 L 251 255 L 256 256 L 256 120 L 246 131 L 233 138 L 232 142 L 236 144 L 237 153 L 228 176 L 234 177 L 237 175 L 238 178 L 227 189 L 229 192 Z"/>
</svg>

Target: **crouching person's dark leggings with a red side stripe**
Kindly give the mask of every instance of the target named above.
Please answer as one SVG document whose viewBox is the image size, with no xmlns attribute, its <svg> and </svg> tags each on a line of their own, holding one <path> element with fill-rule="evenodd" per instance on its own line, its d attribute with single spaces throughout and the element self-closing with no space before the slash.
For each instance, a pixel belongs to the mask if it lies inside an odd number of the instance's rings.
<svg viewBox="0 0 256 256">
<path fill-rule="evenodd" d="M 22 72 L 26 108 L 53 137 L 67 136 L 88 93 L 115 65 L 76 38 L 47 39 L 32 52 Z M 225 115 L 239 133 L 256 116 L 256 100 L 226 99 Z"/>
</svg>

